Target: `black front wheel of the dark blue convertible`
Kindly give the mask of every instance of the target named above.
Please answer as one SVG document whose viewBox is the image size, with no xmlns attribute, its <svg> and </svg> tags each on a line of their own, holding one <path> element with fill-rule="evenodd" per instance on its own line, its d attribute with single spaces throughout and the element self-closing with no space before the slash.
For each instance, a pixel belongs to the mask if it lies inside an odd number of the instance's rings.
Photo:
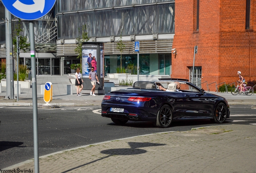
<svg viewBox="0 0 256 173">
<path fill-rule="evenodd" d="M 219 103 L 214 113 L 215 123 L 224 123 L 227 119 L 227 113 L 227 106 L 224 103 Z"/>
</svg>

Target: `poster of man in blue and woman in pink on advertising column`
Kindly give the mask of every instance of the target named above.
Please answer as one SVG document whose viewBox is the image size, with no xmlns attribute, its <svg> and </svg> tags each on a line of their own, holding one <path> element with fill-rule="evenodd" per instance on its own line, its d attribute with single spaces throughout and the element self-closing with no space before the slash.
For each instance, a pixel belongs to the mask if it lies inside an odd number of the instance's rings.
<svg viewBox="0 0 256 173">
<path fill-rule="evenodd" d="M 82 77 L 89 78 L 91 67 L 97 72 L 97 45 L 85 45 L 82 47 Z"/>
</svg>

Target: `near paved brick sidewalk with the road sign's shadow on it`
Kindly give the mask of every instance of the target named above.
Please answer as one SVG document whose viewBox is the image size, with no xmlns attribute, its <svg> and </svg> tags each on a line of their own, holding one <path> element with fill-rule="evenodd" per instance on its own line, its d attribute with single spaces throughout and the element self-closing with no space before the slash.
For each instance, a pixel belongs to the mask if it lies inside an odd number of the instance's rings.
<svg viewBox="0 0 256 173">
<path fill-rule="evenodd" d="M 106 141 L 40 157 L 40 173 L 256 173 L 256 125 Z M 3 170 L 34 170 L 33 160 Z"/>
</svg>

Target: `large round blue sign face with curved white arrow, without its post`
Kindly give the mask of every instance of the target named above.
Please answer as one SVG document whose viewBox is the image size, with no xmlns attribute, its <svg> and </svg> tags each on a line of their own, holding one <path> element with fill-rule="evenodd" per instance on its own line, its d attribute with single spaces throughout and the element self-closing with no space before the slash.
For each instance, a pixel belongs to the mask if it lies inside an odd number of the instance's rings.
<svg viewBox="0 0 256 173">
<path fill-rule="evenodd" d="M 2 0 L 5 8 L 17 18 L 35 20 L 47 14 L 56 0 Z"/>
</svg>

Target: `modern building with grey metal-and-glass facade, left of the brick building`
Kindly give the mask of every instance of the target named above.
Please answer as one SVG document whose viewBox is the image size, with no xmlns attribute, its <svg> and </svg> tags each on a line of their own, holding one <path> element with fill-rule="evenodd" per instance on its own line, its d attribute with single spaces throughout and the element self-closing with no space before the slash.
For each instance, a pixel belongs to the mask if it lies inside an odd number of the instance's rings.
<svg viewBox="0 0 256 173">
<path fill-rule="evenodd" d="M 3 9 L 0 0 L 2 18 Z M 134 42 L 140 41 L 140 74 L 170 75 L 174 16 L 173 0 L 57 0 L 49 14 L 34 21 L 38 74 L 70 73 L 70 65 L 80 61 L 74 49 L 86 24 L 89 42 L 104 42 L 105 73 L 118 72 L 122 66 L 126 72 L 136 74 L 132 69 L 137 66 Z M 29 41 L 29 22 L 21 22 Z M 0 22 L 0 44 L 5 42 L 4 29 L 4 22 Z M 122 57 L 117 49 L 121 34 L 126 46 Z M 49 49 L 44 50 L 47 46 Z M 29 64 L 29 53 L 21 55 L 20 62 Z"/>
</svg>

